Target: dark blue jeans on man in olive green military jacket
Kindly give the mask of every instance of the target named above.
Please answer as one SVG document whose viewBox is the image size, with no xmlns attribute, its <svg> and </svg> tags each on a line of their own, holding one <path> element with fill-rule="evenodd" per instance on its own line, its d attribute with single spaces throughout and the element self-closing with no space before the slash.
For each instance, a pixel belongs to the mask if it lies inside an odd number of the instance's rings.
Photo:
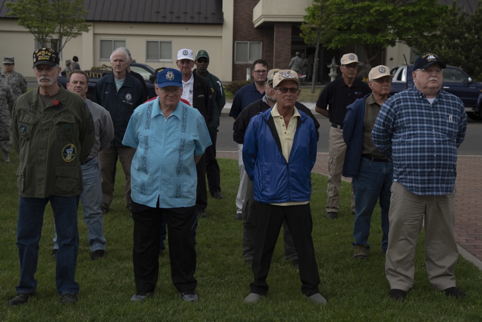
<svg viewBox="0 0 482 322">
<path fill-rule="evenodd" d="M 20 197 L 17 222 L 17 247 L 20 260 L 20 281 L 17 293 L 33 293 L 37 288 L 35 272 L 39 259 L 39 240 L 42 232 L 43 212 L 50 201 L 54 210 L 59 249 L 56 255 L 55 284 L 57 293 L 77 294 L 75 281 L 77 254 L 79 253 L 79 229 L 77 205 L 79 196 L 48 196 L 46 198 Z"/>
</svg>

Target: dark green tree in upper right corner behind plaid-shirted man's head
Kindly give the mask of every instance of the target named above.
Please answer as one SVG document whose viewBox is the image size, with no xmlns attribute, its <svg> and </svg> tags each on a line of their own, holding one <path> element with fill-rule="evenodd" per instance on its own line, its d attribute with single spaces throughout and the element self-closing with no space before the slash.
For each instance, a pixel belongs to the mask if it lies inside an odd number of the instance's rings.
<svg viewBox="0 0 482 322">
<path fill-rule="evenodd" d="M 482 81 L 482 2 L 468 14 L 455 1 L 444 8 L 435 28 L 414 36 L 415 53 L 432 52 L 446 64 L 458 66 Z"/>
</svg>

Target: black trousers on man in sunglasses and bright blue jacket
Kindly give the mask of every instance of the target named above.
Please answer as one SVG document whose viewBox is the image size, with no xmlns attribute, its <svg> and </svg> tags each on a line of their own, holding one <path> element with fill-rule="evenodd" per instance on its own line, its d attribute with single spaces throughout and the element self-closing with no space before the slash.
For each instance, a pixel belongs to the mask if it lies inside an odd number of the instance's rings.
<svg viewBox="0 0 482 322">
<path fill-rule="evenodd" d="M 286 220 L 286 224 L 290 228 L 295 248 L 298 251 L 301 292 L 307 296 L 319 293 L 320 275 L 311 238 L 313 222 L 309 203 L 275 206 L 255 202 L 257 220 L 252 264 L 254 281 L 250 285 L 251 293 L 266 294 L 268 292 L 266 278 L 283 220 Z"/>
</svg>

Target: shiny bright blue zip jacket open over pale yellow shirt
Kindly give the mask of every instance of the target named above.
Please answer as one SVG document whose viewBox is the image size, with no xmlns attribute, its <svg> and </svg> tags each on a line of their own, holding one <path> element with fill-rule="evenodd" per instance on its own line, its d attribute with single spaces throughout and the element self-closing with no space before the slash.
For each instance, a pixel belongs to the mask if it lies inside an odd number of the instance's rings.
<svg viewBox="0 0 482 322">
<path fill-rule="evenodd" d="M 309 201 L 311 169 L 316 161 L 316 129 L 304 112 L 296 125 L 288 163 L 271 109 L 254 116 L 244 134 L 242 158 L 254 182 L 254 199 L 262 203 Z"/>
</svg>

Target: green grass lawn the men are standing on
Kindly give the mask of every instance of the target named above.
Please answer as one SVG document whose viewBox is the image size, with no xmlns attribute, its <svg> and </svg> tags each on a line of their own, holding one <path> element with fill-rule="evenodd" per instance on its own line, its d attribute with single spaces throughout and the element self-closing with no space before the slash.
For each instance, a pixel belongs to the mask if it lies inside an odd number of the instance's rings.
<svg viewBox="0 0 482 322">
<path fill-rule="evenodd" d="M 480 321 L 482 316 L 482 272 L 459 259 L 457 286 L 468 297 L 447 298 L 428 283 L 423 254 L 423 234 L 417 246 L 415 286 L 404 302 L 388 298 L 384 274 L 385 258 L 379 245 L 379 209 L 375 210 L 366 260 L 352 259 L 353 216 L 348 206 L 349 184 L 341 189 L 339 218 L 324 218 L 326 177 L 313 174 L 311 209 L 313 239 L 320 271 L 321 294 L 328 305 L 308 301 L 300 292 L 298 271 L 284 259 L 279 240 L 268 277 L 270 290 L 258 304 L 246 305 L 253 273 L 244 266 L 241 255 L 241 221 L 233 219 L 238 189 L 237 160 L 220 159 L 223 200 L 209 198 L 208 217 L 199 221 L 197 234 L 200 300 L 184 303 L 172 285 L 169 256 L 160 257 L 156 294 L 144 303 L 130 303 L 135 292 L 132 268 L 133 221 L 124 208 L 123 174 L 119 167 L 114 203 L 104 217 L 107 257 L 90 259 L 86 226 L 79 211 L 80 251 L 76 278 L 80 284 L 79 302 L 63 306 L 55 292 L 55 259 L 50 257 L 53 216 L 45 212 L 36 278 L 37 295 L 26 305 L 7 308 L 19 278 L 15 245 L 18 197 L 15 173 L 18 156 L 0 162 L 0 321 Z"/>
</svg>

